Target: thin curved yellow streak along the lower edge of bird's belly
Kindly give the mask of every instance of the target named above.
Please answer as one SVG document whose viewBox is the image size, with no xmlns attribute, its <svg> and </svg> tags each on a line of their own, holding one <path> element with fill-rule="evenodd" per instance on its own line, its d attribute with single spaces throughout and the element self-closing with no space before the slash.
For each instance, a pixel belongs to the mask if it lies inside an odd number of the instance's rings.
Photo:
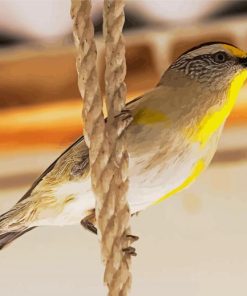
<svg viewBox="0 0 247 296">
<path fill-rule="evenodd" d="M 163 201 L 164 199 L 166 199 L 166 198 L 178 193 L 182 189 L 186 188 L 188 185 L 190 185 L 193 181 L 195 181 L 197 179 L 197 177 L 204 170 L 204 168 L 205 168 L 205 163 L 202 159 L 200 159 L 195 164 L 189 177 L 181 185 L 179 185 L 177 188 L 173 189 L 172 191 L 168 192 L 166 195 L 162 196 L 160 199 L 158 199 L 156 202 L 154 202 L 154 204 L 158 204 L 161 201 Z"/>
</svg>

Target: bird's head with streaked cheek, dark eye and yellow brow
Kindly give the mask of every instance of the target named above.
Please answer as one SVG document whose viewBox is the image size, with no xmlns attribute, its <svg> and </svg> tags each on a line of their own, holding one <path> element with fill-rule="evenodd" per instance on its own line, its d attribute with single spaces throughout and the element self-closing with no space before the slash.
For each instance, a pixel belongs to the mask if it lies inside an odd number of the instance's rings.
<svg viewBox="0 0 247 296">
<path fill-rule="evenodd" d="M 212 91 L 223 90 L 247 78 L 247 52 L 227 43 L 204 43 L 184 52 L 169 70 Z"/>
</svg>

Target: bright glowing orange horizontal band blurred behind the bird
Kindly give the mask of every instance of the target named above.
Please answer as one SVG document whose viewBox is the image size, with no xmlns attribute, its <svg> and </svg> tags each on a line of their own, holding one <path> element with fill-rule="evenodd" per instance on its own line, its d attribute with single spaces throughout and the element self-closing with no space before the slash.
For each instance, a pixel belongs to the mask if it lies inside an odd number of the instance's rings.
<svg viewBox="0 0 247 296">
<path fill-rule="evenodd" d="M 82 134 L 81 99 L 0 111 L 0 151 L 57 148 Z M 247 124 L 247 104 L 236 105 L 227 126 Z"/>
</svg>

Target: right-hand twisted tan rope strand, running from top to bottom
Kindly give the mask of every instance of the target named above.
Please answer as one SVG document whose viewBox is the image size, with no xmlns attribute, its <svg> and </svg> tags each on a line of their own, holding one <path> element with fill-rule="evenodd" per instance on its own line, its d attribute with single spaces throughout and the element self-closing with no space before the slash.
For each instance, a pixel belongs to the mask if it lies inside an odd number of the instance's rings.
<svg viewBox="0 0 247 296">
<path fill-rule="evenodd" d="M 123 42 L 122 29 L 124 25 L 124 0 L 104 1 L 104 37 L 105 37 L 105 89 L 106 106 L 108 111 L 107 130 L 111 143 L 114 162 L 111 169 L 114 171 L 110 183 L 109 195 L 115 203 L 112 204 L 111 212 L 109 201 L 98 214 L 99 223 L 101 219 L 107 219 L 108 225 L 102 232 L 102 242 L 110 244 L 105 253 L 106 272 L 105 282 L 112 293 L 110 295 L 127 295 L 131 286 L 130 256 L 121 252 L 122 248 L 128 247 L 126 235 L 129 234 L 130 213 L 126 193 L 128 191 L 128 153 L 125 145 L 125 122 L 121 119 L 116 121 L 115 116 L 125 106 L 126 75 L 125 46 Z M 110 203 L 111 205 L 111 203 Z M 112 210 L 114 212 L 112 212 Z M 108 218 L 106 218 L 108 216 Z M 102 218 L 101 218 L 102 217 Z M 114 220 L 114 227 L 111 221 Z M 110 234 L 110 236 L 109 236 Z M 109 271 L 108 271 L 109 269 Z M 112 270 L 113 272 L 110 272 Z"/>
</svg>

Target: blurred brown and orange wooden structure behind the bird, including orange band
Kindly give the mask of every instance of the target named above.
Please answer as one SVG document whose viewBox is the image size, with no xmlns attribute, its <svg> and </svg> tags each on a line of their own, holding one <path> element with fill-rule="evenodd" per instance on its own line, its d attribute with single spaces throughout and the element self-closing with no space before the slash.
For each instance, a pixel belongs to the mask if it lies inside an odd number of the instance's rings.
<svg viewBox="0 0 247 296">
<path fill-rule="evenodd" d="M 246 38 L 237 33 L 245 28 L 245 19 L 233 19 L 228 26 L 225 22 L 217 23 L 217 34 L 221 34 L 220 39 L 231 40 L 247 49 Z M 161 73 L 183 50 L 214 39 L 214 36 L 215 25 L 212 23 L 181 30 L 143 30 L 127 34 L 128 98 L 137 97 L 154 87 Z M 179 46 L 178 40 L 183 40 Z M 97 39 L 99 78 L 104 92 L 102 45 L 102 40 Z M 72 45 L 28 45 L 1 51 L 1 152 L 68 145 L 82 134 L 81 109 Z M 241 92 L 227 126 L 246 123 L 247 86 Z"/>
</svg>

